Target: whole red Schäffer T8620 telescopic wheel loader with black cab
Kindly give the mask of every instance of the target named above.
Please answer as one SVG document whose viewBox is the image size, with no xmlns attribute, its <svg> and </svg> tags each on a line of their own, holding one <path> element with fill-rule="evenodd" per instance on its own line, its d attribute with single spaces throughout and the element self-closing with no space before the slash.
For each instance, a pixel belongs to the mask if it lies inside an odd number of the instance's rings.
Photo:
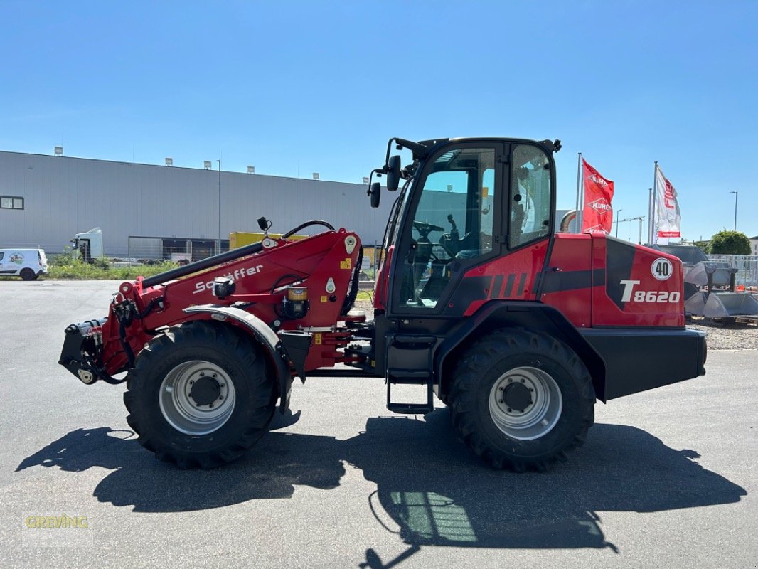
<svg viewBox="0 0 758 569">
<path fill-rule="evenodd" d="M 493 467 L 547 470 L 584 442 L 595 401 L 701 376 L 706 360 L 705 334 L 684 326 L 679 259 L 554 231 L 559 149 L 390 139 L 368 190 L 376 207 L 375 178 L 402 184 L 373 319 L 350 311 L 359 235 L 307 222 L 124 282 L 107 317 L 67 327 L 59 363 L 87 385 L 126 382 L 140 444 L 182 468 L 245 453 L 287 410 L 293 378 L 357 375 L 384 377 L 396 413 L 440 398 Z M 290 239 L 309 227 L 324 231 Z M 398 384 L 422 386 L 423 401 L 394 401 Z"/>
</svg>

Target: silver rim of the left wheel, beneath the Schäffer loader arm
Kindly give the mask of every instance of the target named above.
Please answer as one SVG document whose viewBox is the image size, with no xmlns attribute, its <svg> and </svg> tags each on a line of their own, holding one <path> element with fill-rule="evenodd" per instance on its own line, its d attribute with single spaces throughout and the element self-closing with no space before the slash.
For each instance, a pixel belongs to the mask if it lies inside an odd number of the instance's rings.
<svg viewBox="0 0 758 569">
<path fill-rule="evenodd" d="M 218 398 L 211 403 L 199 404 L 190 396 L 193 385 L 201 379 L 218 385 Z M 163 418 L 174 429 L 186 435 L 208 435 L 229 420 L 234 410 L 234 385 L 215 363 L 192 360 L 166 374 L 158 401 Z"/>
</svg>

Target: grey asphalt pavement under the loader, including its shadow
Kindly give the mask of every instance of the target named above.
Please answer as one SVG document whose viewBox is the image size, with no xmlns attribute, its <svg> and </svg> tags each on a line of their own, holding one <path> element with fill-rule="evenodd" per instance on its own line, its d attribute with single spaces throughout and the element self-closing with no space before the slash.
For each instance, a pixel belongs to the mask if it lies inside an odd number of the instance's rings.
<svg viewBox="0 0 758 569">
<path fill-rule="evenodd" d="M 395 416 L 349 378 L 296 382 L 243 460 L 182 471 L 123 387 L 57 363 L 117 285 L 0 281 L 0 567 L 758 567 L 758 351 L 597 404 L 550 473 L 491 470 L 445 408 Z"/>
</svg>

